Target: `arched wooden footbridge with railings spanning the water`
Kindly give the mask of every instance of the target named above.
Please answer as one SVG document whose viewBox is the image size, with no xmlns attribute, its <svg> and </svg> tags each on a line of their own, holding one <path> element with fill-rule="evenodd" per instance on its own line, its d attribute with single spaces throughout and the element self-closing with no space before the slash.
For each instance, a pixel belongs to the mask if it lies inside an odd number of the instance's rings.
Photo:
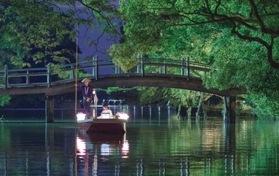
<svg viewBox="0 0 279 176">
<path fill-rule="evenodd" d="M 80 83 L 87 77 L 92 80 L 93 88 L 115 86 L 183 88 L 234 97 L 232 102 L 235 104 L 235 96 L 243 91 L 233 88 L 229 90 L 205 88 L 202 77 L 209 72 L 209 65 L 190 62 L 188 57 L 181 60 L 137 58 L 137 65 L 128 72 L 123 72 L 112 61 L 100 60 L 98 57 L 93 57 L 92 61 L 38 68 L 9 70 L 6 65 L 0 70 L 0 95 L 44 94 L 46 97 L 52 97 L 75 92 L 75 81 Z"/>
</svg>

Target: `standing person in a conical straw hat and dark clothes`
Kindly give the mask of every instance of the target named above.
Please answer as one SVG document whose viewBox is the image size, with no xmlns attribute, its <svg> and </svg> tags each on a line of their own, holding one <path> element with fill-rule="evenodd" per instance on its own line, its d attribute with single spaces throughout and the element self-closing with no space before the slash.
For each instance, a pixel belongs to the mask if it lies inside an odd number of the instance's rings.
<svg viewBox="0 0 279 176">
<path fill-rule="evenodd" d="M 91 79 L 85 78 L 82 80 L 83 86 L 80 86 L 79 90 L 82 90 L 84 111 L 86 113 L 86 118 L 89 118 L 91 110 L 91 96 L 93 93 L 93 87 L 89 84 Z"/>
</svg>

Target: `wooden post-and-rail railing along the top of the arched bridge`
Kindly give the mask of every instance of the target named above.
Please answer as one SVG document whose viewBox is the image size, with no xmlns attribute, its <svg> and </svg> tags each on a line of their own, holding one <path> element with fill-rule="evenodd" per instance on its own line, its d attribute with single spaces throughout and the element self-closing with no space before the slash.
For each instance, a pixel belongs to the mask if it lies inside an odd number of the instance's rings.
<svg viewBox="0 0 279 176">
<path fill-rule="evenodd" d="M 54 86 L 75 80 L 75 74 L 79 72 L 79 79 L 90 77 L 100 79 L 102 77 L 183 77 L 186 79 L 200 79 L 209 72 L 209 65 L 190 62 L 189 58 L 162 59 L 162 58 L 137 58 L 137 65 L 128 72 L 114 65 L 111 60 L 101 60 L 93 57 L 92 61 L 82 61 L 64 65 L 48 65 L 40 68 L 25 68 L 8 70 L 6 65 L 0 70 L 0 88 Z M 84 72 L 84 74 L 80 74 Z"/>
</svg>

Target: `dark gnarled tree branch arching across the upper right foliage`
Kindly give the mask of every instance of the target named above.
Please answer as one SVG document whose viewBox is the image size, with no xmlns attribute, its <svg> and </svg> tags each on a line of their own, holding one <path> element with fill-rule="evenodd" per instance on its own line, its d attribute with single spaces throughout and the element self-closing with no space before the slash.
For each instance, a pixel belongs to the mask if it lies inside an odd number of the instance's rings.
<svg viewBox="0 0 279 176">
<path fill-rule="evenodd" d="M 224 14 L 218 14 L 218 7 L 220 7 L 220 0 L 216 1 L 216 7 L 214 8 L 214 13 L 211 10 L 210 3 L 208 0 L 204 0 L 206 10 L 203 11 L 203 13 L 197 13 L 197 12 L 179 12 L 179 11 L 172 11 L 171 8 L 162 8 L 157 10 L 167 10 L 172 13 L 164 13 L 160 16 L 159 19 L 167 19 L 167 23 L 165 23 L 165 26 L 162 27 L 162 29 L 168 29 L 170 27 L 174 26 L 199 26 L 203 24 L 220 24 L 223 22 L 229 22 L 232 24 L 231 32 L 232 34 L 236 35 L 241 40 L 248 40 L 250 42 L 259 42 L 261 45 L 263 45 L 267 50 L 267 60 L 269 61 L 271 67 L 273 68 L 279 68 L 279 63 L 276 62 L 273 58 L 273 40 L 274 38 L 279 36 L 279 30 L 277 28 L 275 29 L 269 29 L 268 26 L 264 23 L 261 15 L 259 15 L 259 11 L 257 9 L 257 6 L 255 5 L 255 2 L 253 0 L 249 0 L 252 16 L 249 18 L 245 18 L 244 15 L 224 15 Z M 276 15 L 276 13 L 273 13 Z M 232 15 L 232 14 L 231 14 Z M 269 15 L 266 13 L 266 15 Z M 164 16 L 167 16 L 164 18 Z M 187 19 L 188 22 L 181 22 L 181 19 Z M 198 21 L 195 19 L 195 17 L 204 17 L 205 20 Z M 176 20 L 178 19 L 178 20 Z M 209 19 L 209 20 L 206 20 Z M 182 20 L 183 21 L 183 20 Z M 262 33 L 266 35 L 270 35 L 271 42 L 266 42 L 263 38 L 260 37 L 253 37 L 252 35 L 244 35 L 243 33 L 239 32 L 237 30 L 237 26 L 243 26 L 246 29 L 249 29 L 251 31 L 255 31 L 259 33 L 261 31 Z"/>
</svg>

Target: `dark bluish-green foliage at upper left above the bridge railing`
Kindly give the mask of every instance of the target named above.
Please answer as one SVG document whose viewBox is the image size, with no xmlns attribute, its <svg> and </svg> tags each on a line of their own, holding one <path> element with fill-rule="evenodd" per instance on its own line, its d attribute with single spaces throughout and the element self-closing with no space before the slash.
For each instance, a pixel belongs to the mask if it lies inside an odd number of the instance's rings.
<svg viewBox="0 0 279 176">
<path fill-rule="evenodd" d="M 73 50 L 61 48 L 61 44 L 67 38 L 74 39 L 72 13 L 33 1 L 0 3 L 0 11 L 0 50 L 10 53 L 4 60 L 17 67 L 69 61 L 63 55 L 73 54 Z"/>
</svg>

